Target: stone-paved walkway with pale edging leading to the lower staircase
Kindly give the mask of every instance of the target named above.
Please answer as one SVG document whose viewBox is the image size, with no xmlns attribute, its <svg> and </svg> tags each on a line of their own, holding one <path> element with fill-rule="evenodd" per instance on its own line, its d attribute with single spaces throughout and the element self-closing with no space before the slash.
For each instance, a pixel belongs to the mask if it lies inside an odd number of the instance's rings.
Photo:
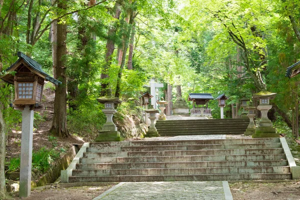
<svg viewBox="0 0 300 200">
<path fill-rule="evenodd" d="M 227 181 L 120 182 L 93 200 L 232 200 Z"/>
</svg>

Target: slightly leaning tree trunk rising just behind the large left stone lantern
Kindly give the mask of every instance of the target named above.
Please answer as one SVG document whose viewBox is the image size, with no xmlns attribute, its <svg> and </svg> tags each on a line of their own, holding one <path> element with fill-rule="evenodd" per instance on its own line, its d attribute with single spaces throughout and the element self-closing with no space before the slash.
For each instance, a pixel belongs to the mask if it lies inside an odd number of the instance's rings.
<svg viewBox="0 0 300 200">
<path fill-rule="evenodd" d="M 114 18 L 119 19 L 120 13 L 121 13 L 119 0 L 115 1 L 113 10 L 114 10 Z M 101 78 L 100 96 L 103 96 L 106 94 L 106 88 L 109 86 L 109 83 L 107 80 L 109 77 L 108 70 L 111 65 L 111 56 L 114 51 L 114 37 L 115 37 L 115 33 L 117 31 L 116 24 L 117 24 L 117 22 L 115 22 L 115 24 L 113 24 L 107 32 L 105 63 L 102 67 L 101 75 L 100 75 L 100 78 Z"/>
</svg>

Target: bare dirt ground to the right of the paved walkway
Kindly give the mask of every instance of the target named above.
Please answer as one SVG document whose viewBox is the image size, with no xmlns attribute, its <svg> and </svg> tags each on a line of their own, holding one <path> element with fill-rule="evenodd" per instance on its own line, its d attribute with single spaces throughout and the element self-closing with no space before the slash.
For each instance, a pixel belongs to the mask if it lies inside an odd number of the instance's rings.
<svg viewBox="0 0 300 200">
<path fill-rule="evenodd" d="M 229 183 L 234 200 L 299 200 L 300 181 Z"/>
</svg>

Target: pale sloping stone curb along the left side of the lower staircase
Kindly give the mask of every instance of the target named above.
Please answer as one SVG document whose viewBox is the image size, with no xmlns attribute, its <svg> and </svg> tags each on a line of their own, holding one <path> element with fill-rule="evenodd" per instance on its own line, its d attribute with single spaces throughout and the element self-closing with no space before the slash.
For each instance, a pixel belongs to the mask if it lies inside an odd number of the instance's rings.
<svg viewBox="0 0 300 200">
<path fill-rule="evenodd" d="M 89 147 L 89 142 L 83 143 L 82 147 L 75 155 L 70 165 L 65 170 L 61 170 L 60 172 L 61 182 L 66 182 L 66 183 L 68 182 L 68 177 L 72 175 L 72 170 L 76 169 L 76 164 L 79 163 L 80 157 L 82 157 L 83 153 L 86 152 L 87 147 Z"/>
</svg>

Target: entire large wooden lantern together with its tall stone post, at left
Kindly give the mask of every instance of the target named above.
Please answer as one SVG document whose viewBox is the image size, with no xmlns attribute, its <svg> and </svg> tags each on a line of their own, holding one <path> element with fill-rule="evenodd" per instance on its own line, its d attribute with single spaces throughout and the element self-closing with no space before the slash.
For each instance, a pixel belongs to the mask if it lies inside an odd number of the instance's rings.
<svg viewBox="0 0 300 200">
<path fill-rule="evenodd" d="M 41 64 L 22 52 L 17 52 L 17 56 L 18 60 L 0 78 L 14 85 L 14 100 L 10 106 L 22 110 L 19 196 L 27 197 L 31 189 L 33 110 L 44 108 L 41 103 L 44 81 L 55 85 L 61 82 L 50 77 L 41 69 Z"/>
</svg>

